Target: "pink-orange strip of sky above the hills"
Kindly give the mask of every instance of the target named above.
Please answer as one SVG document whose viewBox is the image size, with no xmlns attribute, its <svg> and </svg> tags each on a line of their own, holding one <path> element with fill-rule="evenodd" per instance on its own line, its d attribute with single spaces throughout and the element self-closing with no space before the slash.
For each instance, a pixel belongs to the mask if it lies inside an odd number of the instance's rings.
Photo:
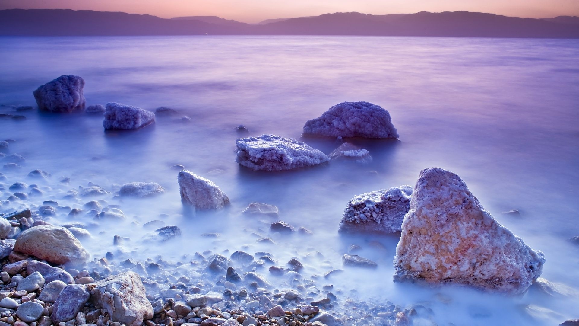
<svg viewBox="0 0 579 326">
<path fill-rule="evenodd" d="M 244 23 L 334 12 L 373 15 L 467 10 L 548 18 L 579 16 L 579 0 L 0 0 L 0 9 L 120 11 L 163 18 L 219 16 Z"/>
</svg>

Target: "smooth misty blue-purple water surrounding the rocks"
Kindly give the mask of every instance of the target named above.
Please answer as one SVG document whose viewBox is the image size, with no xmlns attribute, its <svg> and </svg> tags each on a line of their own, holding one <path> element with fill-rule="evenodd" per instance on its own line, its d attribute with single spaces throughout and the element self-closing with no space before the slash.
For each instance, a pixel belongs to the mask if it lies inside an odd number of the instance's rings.
<svg viewBox="0 0 579 326">
<path fill-rule="evenodd" d="M 346 271 L 334 284 L 361 298 L 394 303 L 427 302 L 440 325 L 553 325 L 579 318 L 576 294 L 522 298 L 469 289 L 424 289 L 393 284 L 396 237 L 356 238 L 337 233 L 355 194 L 416 182 L 420 169 L 440 166 L 463 178 L 499 222 L 547 257 L 544 278 L 579 291 L 579 41 L 549 39 L 400 37 L 92 37 L 0 38 L 0 104 L 34 105 L 32 90 L 63 74 L 86 81 L 87 105 L 120 102 L 154 110 L 178 110 L 135 132 L 104 133 L 101 116 L 23 113 L 22 122 L 1 120 L 0 139 L 14 139 L 13 153 L 27 162 L 6 172 L 9 183 L 32 169 L 52 173 L 50 198 L 61 205 L 69 188 L 87 182 L 110 187 L 157 182 L 167 193 L 120 203 L 141 224 L 159 219 L 183 230 L 172 247 L 146 246 L 146 232 L 122 223 L 91 230 L 94 257 L 111 250 L 113 234 L 135 239 L 134 255 L 266 249 L 280 265 L 305 261 L 307 276 L 340 268 L 351 244 L 379 263 L 372 272 Z M 286 173 L 255 173 L 234 161 L 234 127 L 299 138 L 307 119 L 343 101 L 368 101 L 390 111 L 400 142 L 360 143 L 368 166 L 329 165 Z M 8 108 L 0 108 L 8 113 Z M 188 115 L 192 122 L 179 118 Z M 333 141 L 305 140 L 329 153 Z M 213 180 L 232 200 L 218 213 L 189 216 L 181 207 L 177 171 L 183 164 Z M 59 188 L 60 187 L 60 188 Z M 2 193 L 2 200 L 9 193 Z M 41 204 L 38 198 L 32 201 Z M 254 201 L 280 208 L 280 218 L 313 231 L 310 238 L 274 239 L 261 248 L 252 232 L 266 235 L 272 221 L 240 216 Z M 7 209 L 3 207 L 2 210 Z M 502 215 L 518 209 L 521 217 Z M 79 218 L 82 220 L 82 218 Z M 82 221 L 81 221 L 82 222 Z M 104 233 L 99 234 L 100 231 Z M 200 238 L 217 232 L 218 241 Z M 368 245 L 378 240 L 380 251 Z M 313 258 L 320 251 L 324 258 Z M 309 256 L 308 256 L 309 255 Z M 310 258 L 307 258 L 310 257 Z M 318 287 L 321 288 L 321 285 Z M 438 293 L 452 298 L 442 303 Z M 529 317 L 525 305 L 543 310 Z M 539 311 L 537 309 L 535 311 Z"/>
</svg>

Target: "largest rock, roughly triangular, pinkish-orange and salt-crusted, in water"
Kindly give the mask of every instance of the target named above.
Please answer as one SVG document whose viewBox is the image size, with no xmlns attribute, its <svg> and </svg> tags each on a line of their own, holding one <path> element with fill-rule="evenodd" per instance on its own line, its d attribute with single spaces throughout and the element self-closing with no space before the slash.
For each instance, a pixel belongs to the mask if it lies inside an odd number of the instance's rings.
<svg viewBox="0 0 579 326">
<path fill-rule="evenodd" d="M 420 172 L 394 257 L 395 281 L 524 293 L 545 258 L 485 211 L 455 173 Z"/>
</svg>

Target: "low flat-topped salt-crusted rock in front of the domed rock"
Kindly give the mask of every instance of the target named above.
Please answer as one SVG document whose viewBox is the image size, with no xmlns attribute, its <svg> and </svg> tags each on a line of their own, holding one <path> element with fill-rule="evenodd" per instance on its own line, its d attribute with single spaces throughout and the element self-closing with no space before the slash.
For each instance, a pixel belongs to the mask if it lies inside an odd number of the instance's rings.
<svg viewBox="0 0 579 326">
<path fill-rule="evenodd" d="M 236 140 L 236 162 L 247 168 L 283 171 L 328 162 L 322 151 L 295 139 L 261 135 Z"/>
</svg>

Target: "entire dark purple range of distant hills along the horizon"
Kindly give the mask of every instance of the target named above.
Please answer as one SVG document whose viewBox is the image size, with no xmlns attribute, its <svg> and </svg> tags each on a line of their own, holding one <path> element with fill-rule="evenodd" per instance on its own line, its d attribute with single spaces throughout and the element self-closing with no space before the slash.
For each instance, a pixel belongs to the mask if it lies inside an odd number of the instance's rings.
<svg viewBox="0 0 579 326">
<path fill-rule="evenodd" d="M 532 19 L 475 12 L 398 15 L 329 13 L 245 24 L 215 16 L 151 15 L 69 9 L 0 10 L 0 35 L 387 35 L 579 38 L 578 17 Z"/>
</svg>

